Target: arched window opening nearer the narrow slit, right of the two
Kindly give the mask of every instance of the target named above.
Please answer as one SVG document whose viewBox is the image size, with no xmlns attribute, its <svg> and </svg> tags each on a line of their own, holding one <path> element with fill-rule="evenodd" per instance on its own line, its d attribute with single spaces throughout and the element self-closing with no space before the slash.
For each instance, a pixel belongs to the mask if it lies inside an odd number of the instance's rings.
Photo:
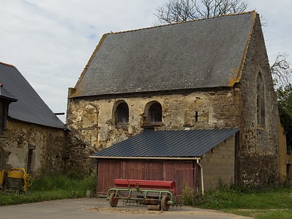
<svg viewBox="0 0 292 219">
<path fill-rule="evenodd" d="M 159 102 L 149 102 L 145 106 L 147 124 L 160 124 L 162 122 L 162 107 Z"/>
</svg>

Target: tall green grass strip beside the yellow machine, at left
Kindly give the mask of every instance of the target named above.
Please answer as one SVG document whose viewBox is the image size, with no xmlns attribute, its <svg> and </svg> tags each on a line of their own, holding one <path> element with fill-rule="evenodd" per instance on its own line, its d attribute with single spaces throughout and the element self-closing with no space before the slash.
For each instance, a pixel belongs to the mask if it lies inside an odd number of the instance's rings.
<svg viewBox="0 0 292 219">
<path fill-rule="evenodd" d="M 92 190 L 95 194 L 95 175 L 77 178 L 68 175 L 43 175 L 33 179 L 32 186 L 25 194 L 0 193 L 0 205 L 86 197 L 86 190 Z"/>
</svg>

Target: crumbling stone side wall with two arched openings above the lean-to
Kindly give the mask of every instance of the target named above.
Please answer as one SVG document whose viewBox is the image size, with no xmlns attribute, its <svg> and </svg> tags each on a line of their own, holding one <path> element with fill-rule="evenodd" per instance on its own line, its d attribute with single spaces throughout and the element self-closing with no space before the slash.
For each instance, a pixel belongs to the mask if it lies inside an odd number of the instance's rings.
<svg viewBox="0 0 292 219">
<path fill-rule="evenodd" d="M 155 126 L 156 130 L 234 128 L 238 125 L 236 117 L 239 116 L 234 95 L 233 90 L 218 90 L 124 97 L 122 100 L 129 106 L 129 124 L 122 127 L 113 122 L 114 104 L 120 98 L 73 99 L 68 102 L 67 126 L 79 133 L 92 151 L 99 151 L 144 131 L 145 106 L 156 101 L 162 106 L 162 124 Z M 88 108 L 92 110 L 88 111 Z"/>
</svg>

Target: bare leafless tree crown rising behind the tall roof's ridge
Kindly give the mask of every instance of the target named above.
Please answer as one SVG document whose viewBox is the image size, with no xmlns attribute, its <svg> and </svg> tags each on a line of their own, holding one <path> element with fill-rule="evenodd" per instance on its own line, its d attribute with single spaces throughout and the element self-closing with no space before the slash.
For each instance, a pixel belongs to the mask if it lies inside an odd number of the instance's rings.
<svg viewBox="0 0 292 219">
<path fill-rule="evenodd" d="M 190 19 L 218 17 L 230 13 L 242 13 L 248 7 L 244 0 L 169 0 L 156 8 L 156 17 L 161 24 L 186 22 Z"/>
</svg>

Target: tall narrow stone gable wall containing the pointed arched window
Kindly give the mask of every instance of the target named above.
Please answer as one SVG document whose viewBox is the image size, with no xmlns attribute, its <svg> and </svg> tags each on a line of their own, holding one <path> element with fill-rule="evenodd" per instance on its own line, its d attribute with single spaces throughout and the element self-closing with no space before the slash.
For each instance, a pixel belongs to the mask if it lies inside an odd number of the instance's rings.
<svg viewBox="0 0 292 219">
<path fill-rule="evenodd" d="M 247 51 L 241 90 L 241 128 L 238 146 L 237 180 L 241 184 L 267 184 L 277 181 L 278 172 L 278 122 L 277 101 L 268 65 L 266 47 L 261 32 L 259 16 Z M 261 77 L 259 77 L 259 74 Z M 259 103 L 259 86 L 263 88 L 263 102 Z M 259 104 L 263 121 L 259 121 Z"/>
</svg>

